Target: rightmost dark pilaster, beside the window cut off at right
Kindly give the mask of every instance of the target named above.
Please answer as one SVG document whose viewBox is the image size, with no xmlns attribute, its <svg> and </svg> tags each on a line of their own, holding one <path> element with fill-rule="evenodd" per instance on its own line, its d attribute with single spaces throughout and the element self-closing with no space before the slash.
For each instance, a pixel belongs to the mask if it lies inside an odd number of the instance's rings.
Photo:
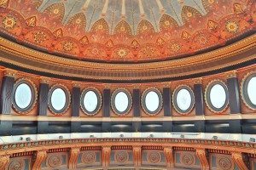
<svg viewBox="0 0 256 170">
<path fill-rule="evenodd" d="M 241 113 L 239 84 L 236 77 L 227 80 L 229 89 L 230 114 Z"/>
</svg>

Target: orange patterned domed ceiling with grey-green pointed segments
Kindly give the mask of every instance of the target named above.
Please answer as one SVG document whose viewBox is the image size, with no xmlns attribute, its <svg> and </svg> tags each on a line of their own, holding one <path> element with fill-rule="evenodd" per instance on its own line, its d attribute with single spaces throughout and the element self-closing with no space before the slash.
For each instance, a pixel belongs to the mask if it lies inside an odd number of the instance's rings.
<svg viewBox="0 0 256 170">
<path fill-rule="evenodd" d="M 255 31 L 253 0 L 0 0 L 2 36 L 101 62 L 177 59 Z"/>
</svg>

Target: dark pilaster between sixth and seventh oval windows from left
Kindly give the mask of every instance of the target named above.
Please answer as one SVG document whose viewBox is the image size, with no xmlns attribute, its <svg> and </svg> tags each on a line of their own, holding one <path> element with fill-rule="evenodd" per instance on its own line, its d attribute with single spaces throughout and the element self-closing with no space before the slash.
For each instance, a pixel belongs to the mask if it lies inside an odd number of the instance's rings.
<svg viewBox="0 0 256 170">
<path fill-rule="evenodd" d="M 195 93 L 195 115 L 204 115 L 204 99 L 201 84 L 194 85 Z"/>
</svg>

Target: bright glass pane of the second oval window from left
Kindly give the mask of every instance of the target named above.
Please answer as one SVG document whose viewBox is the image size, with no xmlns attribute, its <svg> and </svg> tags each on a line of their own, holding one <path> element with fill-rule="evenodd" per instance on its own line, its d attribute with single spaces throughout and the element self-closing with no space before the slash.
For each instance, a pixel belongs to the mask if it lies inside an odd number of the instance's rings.
<svg viewBox="0 0 256 170">
<path fill-rule="evenodd" d="M 56 111 L 61 111 L 66 105 L 67 96 L 63 89 L 56 88 L 50 97 L 50 102 Z"/>
</svg>

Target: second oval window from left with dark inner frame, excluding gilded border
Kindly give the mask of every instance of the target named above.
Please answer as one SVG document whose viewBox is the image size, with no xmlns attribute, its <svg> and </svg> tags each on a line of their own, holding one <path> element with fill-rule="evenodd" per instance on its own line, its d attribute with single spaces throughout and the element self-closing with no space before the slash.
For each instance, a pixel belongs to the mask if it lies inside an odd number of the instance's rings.
<svg viewBox="0 0 256 170">
<path fill-rule="evenodd" d="M 63 88 L 55 87 L 50 92 L 50 109 L 55 113 L 67 109 L 67 92 Z"/>
</svg>

